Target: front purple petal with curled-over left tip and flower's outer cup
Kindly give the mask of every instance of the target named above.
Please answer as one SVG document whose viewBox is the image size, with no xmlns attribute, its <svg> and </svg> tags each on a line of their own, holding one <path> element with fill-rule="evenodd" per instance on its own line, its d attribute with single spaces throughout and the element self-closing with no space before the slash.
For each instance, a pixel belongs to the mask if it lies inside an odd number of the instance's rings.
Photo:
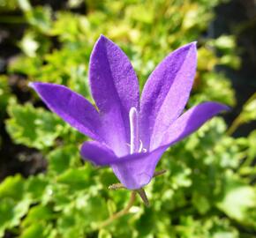
<svg viewBox="0 0 256 238">
<path fill-rule="evenodd" d="M 154 168 L 161 159 L 165 147 L 154 152 L 133 153 L 117 158 L 107 145 L 99 142 L 85 142 L 80 150 L 82 157 L 95 165 L 111 166 L 118 180 L 129 190 L 138 190 L 151 181 Z"/>
</svg>

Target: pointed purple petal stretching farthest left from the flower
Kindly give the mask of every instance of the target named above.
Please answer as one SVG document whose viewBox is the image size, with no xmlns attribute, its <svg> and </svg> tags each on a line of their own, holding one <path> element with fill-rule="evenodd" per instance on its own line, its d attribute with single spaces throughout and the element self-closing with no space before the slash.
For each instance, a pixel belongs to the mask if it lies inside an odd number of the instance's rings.
<svg viewBox="0 0 256 238">
<path fill-rule="evenodd" d="M 66 123 L 96 140 L 100 136 L 100 117 L 93 105 L 78 93 L 65 86 L 47 83 L 31 83 L 41 100 Z"/>
</svg>

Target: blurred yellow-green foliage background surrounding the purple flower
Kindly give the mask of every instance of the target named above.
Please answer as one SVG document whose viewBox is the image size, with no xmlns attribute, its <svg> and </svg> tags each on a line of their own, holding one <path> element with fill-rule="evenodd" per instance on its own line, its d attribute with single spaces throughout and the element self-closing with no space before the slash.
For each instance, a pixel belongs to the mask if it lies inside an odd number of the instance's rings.
<svg viewBox="0 0 256 238">
<path fill-rule="evenodd" d="M 256 237 L 255 4 L 250 0 L 0 0 L 0 237 Z M 142 87 L 172 50 L 198 41 L 187 108 L 230 106 L 171 147 L 168 172 L 107 227 L 130 191 L 79 156 L 87 139 L 49 112 L 31 81 L 91 99 L 87 67 L 103 33 L 132 61 Z"/>
</svg>

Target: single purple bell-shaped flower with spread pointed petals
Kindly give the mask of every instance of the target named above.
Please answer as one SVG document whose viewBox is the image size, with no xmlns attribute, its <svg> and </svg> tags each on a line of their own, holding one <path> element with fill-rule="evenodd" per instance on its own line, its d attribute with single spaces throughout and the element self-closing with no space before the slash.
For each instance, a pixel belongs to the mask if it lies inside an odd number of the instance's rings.
<svg viewBox="0 0 256 238">
<path fill-rule="evenodd" d="M 101 36 L 90 58 L 94 106 L 65 86 L 32 83 L 46 105 L 65 122 L 94 139 L 81 147 L 85 160 L 112 167 L 129 190 L 151 181 L 162 153 L 228 107 L 205 102 L 184 114 L 196 72 L 192 42 L 178 48 L 147 79 L 139 100 L 132 64 L 117 45 Z"/>
</svg>

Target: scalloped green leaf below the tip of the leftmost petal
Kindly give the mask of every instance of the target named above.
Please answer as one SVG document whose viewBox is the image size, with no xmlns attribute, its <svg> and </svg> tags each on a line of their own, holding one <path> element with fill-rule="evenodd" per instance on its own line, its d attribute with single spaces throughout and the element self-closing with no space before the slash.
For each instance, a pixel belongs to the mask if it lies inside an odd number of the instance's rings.
<svg viewBox="0 0 256 238">
<path fill-rule="evenodd" d="M 56 115 L 29 103 L 12 102 L 8 113 L 11 118 L 6 121 L 6 129 L 17 144 L 44 149 L 54 145 L 64 129 L 63 121 Z"/>
</svg>

